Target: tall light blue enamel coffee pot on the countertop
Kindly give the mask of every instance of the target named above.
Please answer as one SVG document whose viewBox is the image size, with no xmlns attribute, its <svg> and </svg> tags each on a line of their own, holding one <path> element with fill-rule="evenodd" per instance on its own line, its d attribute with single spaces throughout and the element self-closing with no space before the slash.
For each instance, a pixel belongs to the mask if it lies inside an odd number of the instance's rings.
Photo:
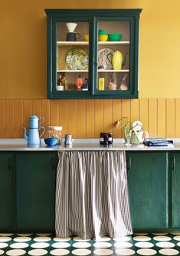
<svg viewBox="0 0 180 256">
<path fill-rule="evenodd" d="M 25 139 L 28 141 L 28 145 L 41 145 L 41 137 L 44 134 L 45 128 L 42 126 L 44 122 L 44 118 L 38 118 L 36 115 L 32 115 L 29 118 L 29 135 L 26 134 L 26 128 L 23 127 L 25 130 Z M 41 131 L 41 134 L 40 134 Z"/>
</svg>

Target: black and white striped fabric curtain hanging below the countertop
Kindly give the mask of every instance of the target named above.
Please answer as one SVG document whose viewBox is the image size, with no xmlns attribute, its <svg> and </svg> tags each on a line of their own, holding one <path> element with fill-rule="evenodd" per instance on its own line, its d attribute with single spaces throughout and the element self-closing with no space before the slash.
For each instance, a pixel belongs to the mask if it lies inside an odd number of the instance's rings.
<svg viewBox="0 0 180 256">
<path fill-rule="evenodd" d="M 133 234 L 125 151 L 60 151 L 56 235 L 119 238 Z"/>
</svg>

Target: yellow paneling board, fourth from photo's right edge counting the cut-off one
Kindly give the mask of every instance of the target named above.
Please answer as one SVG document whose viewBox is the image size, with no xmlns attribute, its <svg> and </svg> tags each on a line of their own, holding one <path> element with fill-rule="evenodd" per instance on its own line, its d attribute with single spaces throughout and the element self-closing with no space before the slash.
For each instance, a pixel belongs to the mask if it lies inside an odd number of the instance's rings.
<svg viewBox="0 0 180 256">
<path fill-rule="evenodd" d="M 157 137 L 157 99 L 149 98 L 149 137 Z"/>
</svg>

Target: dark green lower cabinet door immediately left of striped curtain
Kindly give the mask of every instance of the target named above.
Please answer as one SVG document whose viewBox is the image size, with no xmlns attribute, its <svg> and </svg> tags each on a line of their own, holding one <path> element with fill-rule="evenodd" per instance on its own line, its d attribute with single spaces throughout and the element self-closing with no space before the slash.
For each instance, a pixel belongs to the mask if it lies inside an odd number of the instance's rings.
<svg viewBox="0 0 180 256">
<path fill-rule="evenodd" d="M 54 230 L 55 177 L 54 152 L 16 154 L 18 230 Z"/>
</svg>

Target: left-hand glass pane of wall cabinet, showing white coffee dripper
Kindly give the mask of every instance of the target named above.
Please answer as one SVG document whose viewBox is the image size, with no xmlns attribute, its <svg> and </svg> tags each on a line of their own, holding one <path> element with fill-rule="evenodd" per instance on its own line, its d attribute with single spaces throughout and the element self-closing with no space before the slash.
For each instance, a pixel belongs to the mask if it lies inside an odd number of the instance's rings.
<svg viewBox="0 0 180 256">
<path fill-rule="evenodd" d="M 88 35 L 88 22 L 57 22 L 57 91 L 88 91 Z"/>
</svg>

